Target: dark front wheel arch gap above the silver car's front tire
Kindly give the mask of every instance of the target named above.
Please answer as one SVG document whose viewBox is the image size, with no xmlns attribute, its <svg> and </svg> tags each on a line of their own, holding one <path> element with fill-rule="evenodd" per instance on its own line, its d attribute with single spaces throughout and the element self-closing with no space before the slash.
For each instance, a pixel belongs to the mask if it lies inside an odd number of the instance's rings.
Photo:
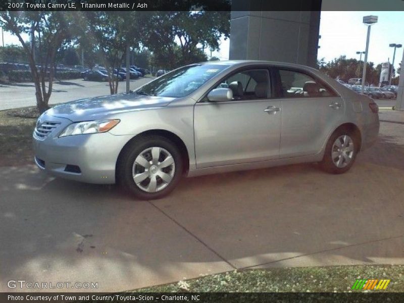
<svg viewBox="0 0 404 303">
<path fill-rule="evenodd" d="M 168 130 L 164 130 L 164 129 L 151 129 L 151 130 L 146 130 L 143 131 L 135 136 L 133 136 L 130 140 L 128 140 L 128 142 L 126 142 L 126 144 L 122 147 L 116 164 L 115 164 L 115 178 L 117 178 L 118 176 L 116 175 L 118 172 L 118 163 L 121 160 L 123 151 L 125 150 L 125 148 L 131 144 L 133 141 L 137 140 L 140 137 L 144 137 L 144 136 L 151 136 L 151 135 L 156 135 L 156 136 L 162 136 L 165 137 L 167 139 L 169 139 L 171 142 L 173 142 L 179 149 L 180 153 L 181 153 L 181 158 L 182 158 L 182 162 L 183 162 L 183 174 L 186 175 L 189 171 L 189 153 L 188 153 L 188 149 L 184 143 L 184 141 L 175 133 L 168 131 Z"/>
</svg>

